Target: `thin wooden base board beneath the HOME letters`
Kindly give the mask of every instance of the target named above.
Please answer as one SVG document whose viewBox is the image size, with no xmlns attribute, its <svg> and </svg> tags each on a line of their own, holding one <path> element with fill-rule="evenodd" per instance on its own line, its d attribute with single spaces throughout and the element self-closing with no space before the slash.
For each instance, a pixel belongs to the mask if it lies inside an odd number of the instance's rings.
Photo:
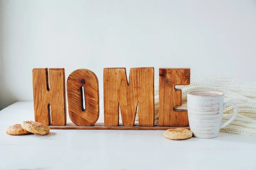
<svg viewBox="0 0 256 170">
<path fill-rule="evenodd" d="M 104 126 L 104 123 L 96 123 L 94 126 L 77 126 L 73 123 L 67 123 L 65 126 L 49 126 L 51 129 L 91 129 L 91 130 L 167 130 L 174 129 L 179 127 L 169 127 L 169 126 L 158 126 L 158 123 L 155 123 L 152 127 L 139 126 L 135 124 L 134 126 Z M 182 127 L 189 129 L 189 127 Z"/>
</svg>

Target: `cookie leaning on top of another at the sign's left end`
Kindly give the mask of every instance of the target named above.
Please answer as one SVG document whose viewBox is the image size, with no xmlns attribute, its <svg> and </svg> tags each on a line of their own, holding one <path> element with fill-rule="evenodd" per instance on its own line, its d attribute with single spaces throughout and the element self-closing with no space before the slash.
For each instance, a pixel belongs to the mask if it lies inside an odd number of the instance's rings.
<svg viewBox="0 0 256 170">
<path fill-rule="evenodd" d="M 50 132 L 50 128 L 47 125 L 34 121 L 24 121 L 21 123 L 21 127 L 31 133 L 39 135 L 47 135 Z"/>
</svg>

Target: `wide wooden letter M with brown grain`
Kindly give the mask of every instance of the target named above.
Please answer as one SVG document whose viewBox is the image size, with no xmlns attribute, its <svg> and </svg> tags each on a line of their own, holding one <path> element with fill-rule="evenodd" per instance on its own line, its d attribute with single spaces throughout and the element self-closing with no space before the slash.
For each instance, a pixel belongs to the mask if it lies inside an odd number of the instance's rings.
<svg viewBox="0 0 256 170">
<path fill-rule="evenodd" d="M 104 68 L 105 126 L 134 126 L 137 105 L 140 126 L 154 126 L 154 68 L 131 68 L 129 84 L 125 68 Z"/>
</svg>

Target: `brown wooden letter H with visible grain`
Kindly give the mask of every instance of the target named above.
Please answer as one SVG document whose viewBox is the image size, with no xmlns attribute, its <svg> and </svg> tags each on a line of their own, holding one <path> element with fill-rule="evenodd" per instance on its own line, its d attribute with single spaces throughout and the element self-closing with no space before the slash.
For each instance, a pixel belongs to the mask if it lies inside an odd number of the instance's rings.
<svg viewBox="0 0 256 170">
<path fill-rule="evenodd" d="M 45 125 L 66 125 L 65 69 L 34 68 L 32 77 L 35 121 Z"/>
</svg>

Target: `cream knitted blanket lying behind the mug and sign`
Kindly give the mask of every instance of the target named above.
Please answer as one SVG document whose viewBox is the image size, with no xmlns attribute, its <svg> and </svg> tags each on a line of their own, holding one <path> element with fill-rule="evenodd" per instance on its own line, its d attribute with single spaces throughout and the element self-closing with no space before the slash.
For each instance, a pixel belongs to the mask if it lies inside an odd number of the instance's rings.
<svg viewBox="0 0 256 170">
<path fill-rule="evenodd" d="M 158 80 L 155 81 L 155 122 L 158 122 Z M 196 76 L 191 79 L 190 85 L 177 85 L 182 89 L 182 106 L 177 108 L 187 109 L 186 94 L 191 91 L 211 90 L 224 93 L 225 102 L 235 102 L 238 106 L 236 119 L 222 128 L 222 132 L 238 133 L 256 136 L 256 83 L 240 82 L 235 79 L 217 76 Z M 104 111 L 103 97 L 100 99 L 100 111 Z M 233 115 L 234 108 L 228 106 L 224 110 L 222 122 L 226 122 Z M 120 112 L 120 111 L 119 111 Z M 103 113 L 101 113 L 103 114 Z M 119 116 L 120 122 L 121 116 Z M 138 113 L 136 114 L 136 121 Z"/>
</svg>

